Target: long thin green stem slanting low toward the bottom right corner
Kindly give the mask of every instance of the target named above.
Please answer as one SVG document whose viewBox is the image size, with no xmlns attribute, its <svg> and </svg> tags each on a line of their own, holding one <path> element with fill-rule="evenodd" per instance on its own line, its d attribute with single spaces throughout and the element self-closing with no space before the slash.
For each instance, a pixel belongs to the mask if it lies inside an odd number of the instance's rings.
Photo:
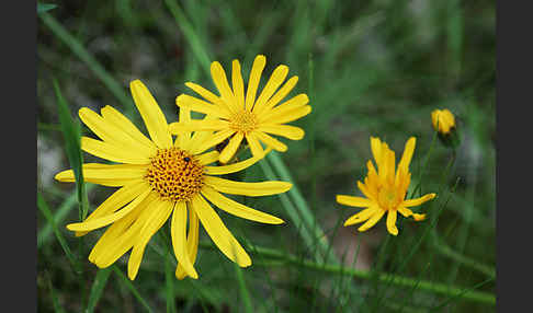
<svg viewBox="0 0 533 313">
<path fill-rule="evenodd" d="M 199 247 L 217 250 L 212 243 L 200 242 Z M 368 270 L 360 270 L 354 268 L 345 268 L 339 265 L 318 264 L 309 259 L 302 259 L 300 257 L 281 253 L 273 248 L 250 246 L 249 252 L 252 254 L 261 255 L 263 257 L 274 258 L 274 263 L 263 263 L 262 265 L 270 266 L 284 266 L 286 264 L 294 264 L 306 267 L 308 269 L 325 271 L 329 274 L 348 275 L 359 279 L 376 279 L 379 282 L 394 285 L 397 287 L 416 288 L 419 290 L 446 295 L 450 298 L 462 298 L 464 300 L 470 300 L 475 302 L 481 302 L 486 304 L 496 305 L 496 297 L 489 292 L 468 290 L 468 288 L 462 288 L 457 286 L 450 286 L 444 283 L 431 282 L 427 280 L 412 279 L 399 275 L 379 273 L 375 274 Z M 494 280 L 494 278 L 488 281 Z M 487 281 L 487 282 L 488 282 Z"/>
</svg>

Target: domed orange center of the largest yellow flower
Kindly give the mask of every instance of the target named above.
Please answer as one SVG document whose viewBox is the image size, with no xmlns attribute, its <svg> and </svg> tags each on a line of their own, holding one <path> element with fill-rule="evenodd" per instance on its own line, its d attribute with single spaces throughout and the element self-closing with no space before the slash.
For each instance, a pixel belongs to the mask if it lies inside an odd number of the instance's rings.
<svg viewBox="0 0 533 313">
<path fill-rule="evenodd" d="M 190 200 L 202 188 L 204 169 L 188 152 L 161 149 L 150 161 L 145 178 L 163 200 Z"/>
</svg>

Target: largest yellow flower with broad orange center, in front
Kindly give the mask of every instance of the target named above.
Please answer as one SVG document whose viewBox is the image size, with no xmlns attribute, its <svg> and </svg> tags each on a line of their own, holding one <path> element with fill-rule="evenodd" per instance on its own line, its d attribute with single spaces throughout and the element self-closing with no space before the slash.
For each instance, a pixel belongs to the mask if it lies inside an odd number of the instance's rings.
<svg viewBox="0 0 533 313">
<path fill-rule="evenodd" d="M 135 80 L 131 91 L 150 139 L 111 106 L 103 107 L 101 115 L 89 108 L 79 111 L 81 120 L 101 139 L 82 137 L 81 149 L 122 163 L 83 164 L 86 182 L 120 187 L 84 221 L 67 225 L 81 236 L 111 224 L 92 248 L 89 260 L 104 268 L 132 250 L 127 274 L 129 279 L 135 279 L 150 237 L 170 218 L 172 247 L 178 259 L 177 278 L 197 278 L 193 264 L 200 222 L 229 259 L 241 267 L 251 265 L 250 257 L 209 202 L 243 219 L 280 224 L 283 220 L 220 193 L 266 196 L 288 190 L 291 183 L 243 183 L 217 177 L 241 171 L 259 161 L 261 155 L 231 165 L 209 165 L 218 160 L 218 152 L 206 152 L 208 147 L 203 144 L 211 140 L 209 131 L 183 132 L 173 141 L 165 115 L 148 89 Z M 180 112 L 180 120 L 190 120 L 188 109 Z M 56 179 L 75 182 L 75 176 L 68 170 L 58 173 Z"/>
</svg>

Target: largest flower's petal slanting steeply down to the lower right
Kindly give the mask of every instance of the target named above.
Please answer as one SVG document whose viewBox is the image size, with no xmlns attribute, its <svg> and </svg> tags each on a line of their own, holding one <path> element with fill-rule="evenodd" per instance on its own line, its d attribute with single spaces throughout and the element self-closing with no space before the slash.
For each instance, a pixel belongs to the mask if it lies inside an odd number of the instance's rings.
<svg viewBox="0 0 533 313">
<path fill-rule="evenodd" d="M 229 259 L 237 263 L 240 267 L 250 266 L 250 256 L 248 256 L 246 251 L 224 225 L 218 215 L 205 199 L 199 195 L 192 199 L 192 206 L 199 216 L 200 221 L 204 225 L 205 231 L 220 252 Z"/>
</svg>

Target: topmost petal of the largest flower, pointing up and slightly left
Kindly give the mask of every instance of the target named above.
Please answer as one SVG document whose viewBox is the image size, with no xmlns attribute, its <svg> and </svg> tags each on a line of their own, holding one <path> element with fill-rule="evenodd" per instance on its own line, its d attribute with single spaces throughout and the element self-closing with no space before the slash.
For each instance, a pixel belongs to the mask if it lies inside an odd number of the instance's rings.
<svg viewBox="0 0 533 313">
<path fill-rule="evenodd" d="M 172 147 L 167 118 L 146 85 L 139 80 L 134 80 L 129 83 L 129 89 L 151 140 L 161 149 Z"/>
</svg>

